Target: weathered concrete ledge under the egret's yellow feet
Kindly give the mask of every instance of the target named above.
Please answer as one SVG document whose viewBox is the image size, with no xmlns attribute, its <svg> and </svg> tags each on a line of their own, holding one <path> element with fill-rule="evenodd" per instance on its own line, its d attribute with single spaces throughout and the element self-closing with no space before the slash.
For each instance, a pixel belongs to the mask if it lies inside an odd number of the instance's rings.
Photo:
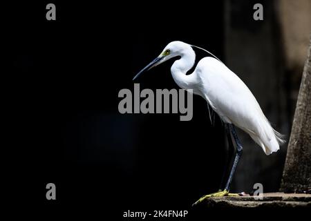
<svg viewBox="0 0 311 221">
<path fill-rule="evenodd" d="M 311 208 L 311 194 L 264 193 L 263 200 L 253 196 L 209 198 L 202 202 L 209 208 Z"/>
</svg>

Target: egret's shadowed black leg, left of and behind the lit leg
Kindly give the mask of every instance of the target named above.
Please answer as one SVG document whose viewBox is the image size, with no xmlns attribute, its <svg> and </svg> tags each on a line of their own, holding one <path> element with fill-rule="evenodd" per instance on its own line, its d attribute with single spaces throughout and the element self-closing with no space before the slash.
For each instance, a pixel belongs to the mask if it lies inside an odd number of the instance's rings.
<svg viewBox="0 0 311 221">
<path fill-rule="evenodd" d="M 225 166 L 223 169 L 223 176 L 221 177 L 221 182 L 220 182 L 220 190 L 223 190 L 225 188 L 225 182 L 228 177 L 228 168 L 230 163 L 232 162 L 232 156 L 234 153 L 234 145 L 232 144 L 232 137 L 231 137 L 231 132 L 230 132 L 230 128 L 229 128 L 229 124 L 225 124 L 225 133 L 227 136 L 227 141 L 228 141 L 228 147 L 225 150 Z"/>
</svg>

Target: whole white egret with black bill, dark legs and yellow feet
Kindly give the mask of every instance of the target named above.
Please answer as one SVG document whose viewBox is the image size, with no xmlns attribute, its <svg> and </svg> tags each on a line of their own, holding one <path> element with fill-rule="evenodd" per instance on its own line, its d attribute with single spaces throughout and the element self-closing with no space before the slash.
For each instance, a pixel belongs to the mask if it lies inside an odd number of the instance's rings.
<svg viewBox="0 0 311 221">
<path fill-rule="evenodd" d="M 176 60 L 171 66 L 171 75 L 176 84 L 185 90 L 192 89 L 194 94 L 203 97 L 219 115 L 220 119 L 225 122 L 229 144 L 236 146 L 234 163 L 225 184 L 225 189 L 203 196 L 196 202 L 198 203 L 209 197 L 237 195 L 229 193 L 229 186 L 238 160 L 242 155 L 243 147 L 238 140 L 234 126 L 248 133 L 254 142 L 263 148 L 266 155 L 278 151 L 279 144 L 285 141 L 282 139 L 282 135 L 272 128 L 249 88 L 232 70 L 229 70 L 223 62 L 210 52 L 200 48 L 213 57 L 202 58 L 194 72 L 186 75 L 187 71 L 194 66 L 196 59 L 192 47 L 199 48 L 182 41 L 172 41 L 133 80 L 145 70 L 149 70 L 172 57 L 180 56 L 180 59 Z"/>
</svg>

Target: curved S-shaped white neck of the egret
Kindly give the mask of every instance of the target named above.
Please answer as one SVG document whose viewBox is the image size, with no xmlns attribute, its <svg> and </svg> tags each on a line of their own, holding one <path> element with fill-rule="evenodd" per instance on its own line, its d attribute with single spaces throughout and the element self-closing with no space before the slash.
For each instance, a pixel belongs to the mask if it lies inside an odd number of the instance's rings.
<svg viewBox="0 0 311 221">
<path fill-rule="evenodd" d="M 186 73 L 194 66 L 196 53 L 191 48 L 185 50 L 180 56 L 180 59 L 171 66 L 171 75 L 180 88 L 193 89 L 193 85 L 197 83 L 197 77 L 194 73 L 191 75 L 186 75 Z"/>
</svg>

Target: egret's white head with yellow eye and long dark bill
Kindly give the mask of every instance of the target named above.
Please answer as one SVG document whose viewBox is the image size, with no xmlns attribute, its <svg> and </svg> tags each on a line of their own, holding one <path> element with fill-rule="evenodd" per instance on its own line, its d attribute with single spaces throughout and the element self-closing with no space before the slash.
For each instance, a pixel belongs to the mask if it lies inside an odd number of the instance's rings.
<svg viewBox="0 0 311 221">
<path fill-rule="evenodd" d="M 182 41 L 172 41 L 164 48 L 164 50 L 160 53 L 160 55 L 156 59 L 151 61 L 150 64 L 148 64 L 146 67 L 140 70 L 140 72 L 137 75 L 135 75 L 133 80 L 138 78 L 138 76 L 144 73 L 144 71 L 150 70 L 151 68 L 163 63 L 164 61 L 171 59 L 172 57 L 182 56 L 186 51 L 189 50 L 192 50 L 189 44 L 186 44 Z"/>
</svg>

